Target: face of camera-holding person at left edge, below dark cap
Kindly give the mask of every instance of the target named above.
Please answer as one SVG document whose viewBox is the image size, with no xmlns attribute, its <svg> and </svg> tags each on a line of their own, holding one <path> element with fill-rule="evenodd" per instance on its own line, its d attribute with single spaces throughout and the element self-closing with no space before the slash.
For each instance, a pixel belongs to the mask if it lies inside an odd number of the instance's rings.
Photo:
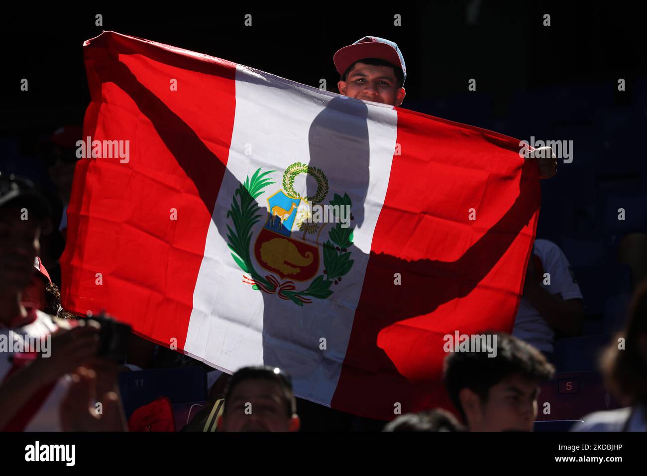
<svg viewBox="0 0 647 476">
<path fill-rule="evenodd" d="M 16 292 L 34 277 L 34 258 L 40 251 L 40 223 L 21 220 L 18 207 L 0 208 L 0 288 Z"/>
</svg>

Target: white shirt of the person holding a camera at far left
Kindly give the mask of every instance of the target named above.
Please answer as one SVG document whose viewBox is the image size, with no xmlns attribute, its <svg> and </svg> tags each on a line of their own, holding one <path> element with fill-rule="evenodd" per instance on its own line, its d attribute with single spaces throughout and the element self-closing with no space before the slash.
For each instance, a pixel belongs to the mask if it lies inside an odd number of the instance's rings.
<svg viewBox="0 0 647 476">
<path fill-rule="evenodd" d="M 0 335 L 3 335 L 5 341 L 11 336 L 13 341 L 21 340 L 25 342 L 26 336 L 45 336 L 47 334 L 53 334 L 58 330 L 58 325 L 52 321 L 52 317 L 49 314 L 36 310 L 35 317 L 32 322 L 22 326 L 11 329 L 6 327 L 0 328 Z M 16 348 L 21 347 L 23 346 Z M 14 367 L 14 363 L 12 362 L 13 355 L 14 345 L 8 346 L 7 352 L 0 352 L 0 382 L 5 380 L 7 374 Z M 27 425 L 25 425 L 23 431 L 61 430 L 58 407 L 65 394 L 67 394 L 70 381 L 68 376 L 59 378 L 49 392 L 43 395 L 43 398 L 38 399 L 36 402 L 30 402 L 30 407 L 26 409 L 28 415 Z M 25 409 L 21 409 L 21 411 L 25 411 Z"/>
</svg>

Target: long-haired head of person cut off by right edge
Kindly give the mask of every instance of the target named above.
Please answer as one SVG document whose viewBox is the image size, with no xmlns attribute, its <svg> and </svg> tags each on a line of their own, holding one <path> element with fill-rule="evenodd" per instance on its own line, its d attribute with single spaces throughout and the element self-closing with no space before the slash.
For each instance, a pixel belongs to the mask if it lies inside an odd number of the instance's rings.
<svg viewBox="0 0 647 476">
<path fill-rule="evenodd" d="M 620 403 L 647 407 L 647 280 L 636 287 L 624 329 L 602 356 L 602 374 Z"/>
</svg>

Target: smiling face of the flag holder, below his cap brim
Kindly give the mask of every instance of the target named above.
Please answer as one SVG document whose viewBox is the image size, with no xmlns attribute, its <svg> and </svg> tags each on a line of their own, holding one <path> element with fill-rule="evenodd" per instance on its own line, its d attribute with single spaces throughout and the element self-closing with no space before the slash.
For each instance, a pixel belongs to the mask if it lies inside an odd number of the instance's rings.
<svg viewBox="0 0 647 476">
<path fill-rule="evenodd" d="M 397 87 L 395 72 L 390 66 L 373 66 L 355 63 L 345 81 L 337 83 L 339 93 L 356 99 L 382 102 L 400 106 L 404 100 L 404 87 Z"/>
</svg>

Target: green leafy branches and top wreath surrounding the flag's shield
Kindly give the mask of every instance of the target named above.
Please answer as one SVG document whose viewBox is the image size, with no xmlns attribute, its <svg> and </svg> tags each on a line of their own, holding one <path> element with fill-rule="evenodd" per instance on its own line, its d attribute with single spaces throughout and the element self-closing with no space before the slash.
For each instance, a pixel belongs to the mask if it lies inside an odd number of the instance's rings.
<svg viewBox="0 0 647 476">
<path fill-rule="evenodd" d="M 241 183 L 234 192 L 232 206 L 226 215 L 226 218 L 231 218 L 233 227 L 232 229 L 227 225 L 227 245 L 232 251 L 232 258 L 243 272 L 247 273 L 243 275 L 243 282 L 251 284 L 253 289 L 269 294 L 276 293 L 281 299 L 291 300 L 299 306 L 311 303 L 313 298 L 327 299 L 334 293 L 331 286 L 341 282 L 342 277 L 353 267 L 354 260 L 351 260 L 351 252 L 348 251 L 353 245 L 353 227 L 343 228 L 341 223 L 331 223 L 333 226 L 329 231 L 328 239 L 322 244 L 323 274 L 311 280 L 305 289 L 296 289 L 291 280 L 281 282 L 279 277 L 272 274 L 263 277 L 254 268 L 251 252 L 252 227 L 263 218 L 263 214 L 259 213 L 261 207 L 258 206 L 256 199 L 265 192 L 264 188 L 276 183 L 269 177 L 274 172 L 277 171 L 268 170 L 261 173 L 261 169 L 258 168 L 252 177 L 248 176 L 245 183 Z M 329 185 L 325 174 L 316 167 L 299 162 L 291 164 L 283 174 L 283 190 L 289 196 L 301 198 L 294 191 L 294 179 L 299 174 L 307 174 L 317 183 L 315 194 L 303 199 L 313 204 L 322 203 L 328 194 Z M 344 194 L 343 197 L 334 194 L 329 204 L 349 207 L 349 209 L 352 205 L 348 194 Z"/>
</svg>

